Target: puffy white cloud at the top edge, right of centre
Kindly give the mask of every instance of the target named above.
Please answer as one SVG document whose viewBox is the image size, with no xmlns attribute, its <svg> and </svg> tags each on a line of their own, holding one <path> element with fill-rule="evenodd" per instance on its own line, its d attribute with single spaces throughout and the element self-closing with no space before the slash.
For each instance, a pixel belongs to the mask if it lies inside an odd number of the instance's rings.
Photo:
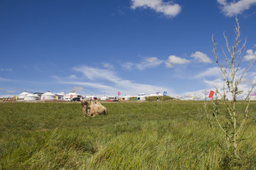
<svg viewBox="0 0 256 170">
<path fill-rule="evenodd" d="M 156 12 L 164 13 L 165 16 L 174 17 L 181 12 L 181 6 L 171 1 L 162 0 L 132 0 L 132 8 L 152 8 Z"/>
</svg>

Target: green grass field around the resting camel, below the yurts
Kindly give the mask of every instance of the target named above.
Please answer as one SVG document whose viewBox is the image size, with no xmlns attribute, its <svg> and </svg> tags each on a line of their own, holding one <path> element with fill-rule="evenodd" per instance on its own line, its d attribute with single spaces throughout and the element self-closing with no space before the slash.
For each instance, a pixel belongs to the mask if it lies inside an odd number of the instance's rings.
<svg viewBox="0 0 256 170">
<path fill-rule="evenodd" d="M 1 102 L 0 169 L 225 169 L 203 102 L 102 104 L 107 115 L 83 118 L 80 103 Z M 255 168 L 255 113 L 251 103 L 241 169 Z"/>
</svg>

